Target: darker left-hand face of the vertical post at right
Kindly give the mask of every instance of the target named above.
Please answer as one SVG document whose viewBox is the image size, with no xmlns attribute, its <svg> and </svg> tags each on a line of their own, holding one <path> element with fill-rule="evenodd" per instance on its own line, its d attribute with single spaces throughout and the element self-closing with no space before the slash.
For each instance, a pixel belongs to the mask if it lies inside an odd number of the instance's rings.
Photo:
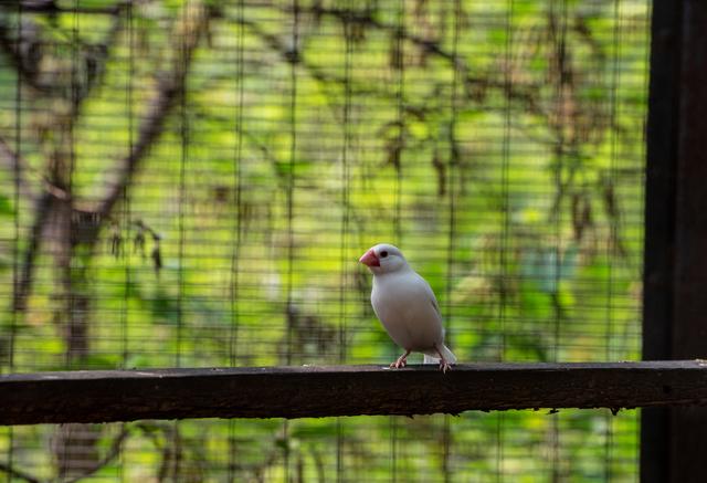
<svg viewBox="0 0 707 483">
<path fill-rule="evenodd" d="M 679 126 L 682 0 L 654 0 L 646 125 L 643 358 L 673 358 L 676 300 L 677 133 Z M 671 474 L 671 410 L 641 411 L 641 482 Z"/>
</svg>

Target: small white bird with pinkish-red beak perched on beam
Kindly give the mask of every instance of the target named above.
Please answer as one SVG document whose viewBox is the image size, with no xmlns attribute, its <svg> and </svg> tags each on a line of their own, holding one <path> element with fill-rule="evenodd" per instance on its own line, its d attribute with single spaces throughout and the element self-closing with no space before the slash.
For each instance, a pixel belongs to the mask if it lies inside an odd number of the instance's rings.
<svg viewBox="0 0 707 483">
<path fill-rule="evenodd" d="M 444 345 L 440 306 L 430 284 L 410 267 L 397 246 L 381 243 L 359 259 L 373 274 L 371 305 L 386 332 L 405 354 L 390 367 L 405 367 L 411 351 L 424 354 L 424 364 L 440 363 L 446 372 L 456 357 Z"/>
</svg>

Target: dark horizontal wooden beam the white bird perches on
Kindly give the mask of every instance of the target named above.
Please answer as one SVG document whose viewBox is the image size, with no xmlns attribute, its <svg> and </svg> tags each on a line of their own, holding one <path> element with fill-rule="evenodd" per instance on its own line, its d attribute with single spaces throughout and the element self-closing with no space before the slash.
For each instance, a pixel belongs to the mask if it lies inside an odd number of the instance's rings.
<svg viewBox="0 0 707 483">
<path fill-rule="evenodd" d="M 80 370 L 0 376 L 0 424 L 706 406 L 707 361 Z"/>
</svg>

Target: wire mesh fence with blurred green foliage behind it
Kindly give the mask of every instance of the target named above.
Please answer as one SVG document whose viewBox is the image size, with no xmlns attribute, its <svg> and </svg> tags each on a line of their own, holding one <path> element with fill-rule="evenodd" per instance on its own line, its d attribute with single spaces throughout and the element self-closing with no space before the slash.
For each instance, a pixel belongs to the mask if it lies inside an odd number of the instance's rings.
<svg viewBox="0 0 707 483">
<path fill-rule="evenodd" d="M 0 368 L 637 359 L 650 4 L 0 6 Z M 413 360 L 416 361 L 416 360 Z M 306 390 L 306 387 L 303 387 Z M 0 429 L 6 481 L 635 481 L 634 411 Z"/>
</svg>

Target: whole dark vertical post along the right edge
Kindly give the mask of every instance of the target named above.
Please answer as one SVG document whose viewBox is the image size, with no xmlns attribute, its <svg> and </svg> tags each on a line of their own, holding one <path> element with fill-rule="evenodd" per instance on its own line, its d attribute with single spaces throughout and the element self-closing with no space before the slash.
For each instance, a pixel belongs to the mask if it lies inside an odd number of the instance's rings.
<svg viewBox="0 0 707 483">
<path fill-rule="evenodd" d="M 707 354 L 707 3 L 653 2 L 643 358 Z M 707 408 L 648 409 L 643 483 L 703 481 Z"/>
</svg>

